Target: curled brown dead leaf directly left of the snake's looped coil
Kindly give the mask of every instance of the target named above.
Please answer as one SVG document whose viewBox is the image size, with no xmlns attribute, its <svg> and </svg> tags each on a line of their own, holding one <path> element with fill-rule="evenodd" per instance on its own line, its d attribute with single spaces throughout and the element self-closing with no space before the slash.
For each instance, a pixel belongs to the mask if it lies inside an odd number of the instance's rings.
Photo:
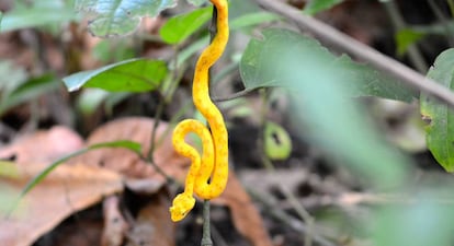
<svg viewBox="0 0 454 246">
<path fill-rule="evenodd" d="M 87 139 L 87 145 L 117 140 L 135 141 L 141 144 L 141 154 L 148 155 L 152 129 L 156 121 L 145 117 L 127 117 L 110 121 Z M 154 163 L 169 176 L 181 176 L 185 173 L 189 162 L 178 155 L 170 140 L 169 126 L 161 121 L 156 129 Z M 141 160 L 136 153 L 125 149 L 99 149 L 79 155 L 71 163 L 87 163 L 115 171 L 128 179 L 154 180 L 156 188 L 166 183 L 166 177 L 156 172 L 152 165 Z M 180 174 L 180 175 L 177 175 Z"/>
</svg>

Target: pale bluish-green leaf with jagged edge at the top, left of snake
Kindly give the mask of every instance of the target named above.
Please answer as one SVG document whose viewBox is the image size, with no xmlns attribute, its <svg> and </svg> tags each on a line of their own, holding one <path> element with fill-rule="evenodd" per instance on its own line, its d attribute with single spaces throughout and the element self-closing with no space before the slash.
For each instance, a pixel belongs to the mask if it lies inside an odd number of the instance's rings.
<svg viewBox="0 0 454 246">
<path fill-rule="evenodd" d="M 134 32 L 145 15 L 156 16 L 174 7 L 175 0 L 76 0 L 76 9 L 93 16 L 89 31 L 99 37 L 114 37 Z"/>
</svg>

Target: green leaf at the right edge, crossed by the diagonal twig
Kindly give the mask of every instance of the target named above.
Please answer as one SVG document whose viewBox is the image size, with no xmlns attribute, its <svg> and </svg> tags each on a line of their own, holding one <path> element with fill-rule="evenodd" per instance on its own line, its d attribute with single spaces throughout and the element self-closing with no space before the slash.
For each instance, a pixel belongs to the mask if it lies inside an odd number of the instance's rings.
<svg viewBox="0 0 454 246">
<path fill-rule="evenodd" d="M 454 89 L 454 49 L 440 54 L 428 77 Z M 447 172 L 454 172 L 454 113 L 445 104 L 421 93 L 421 115 L 427 122 L 425 141 L 435 160 Z"/>
</svg>

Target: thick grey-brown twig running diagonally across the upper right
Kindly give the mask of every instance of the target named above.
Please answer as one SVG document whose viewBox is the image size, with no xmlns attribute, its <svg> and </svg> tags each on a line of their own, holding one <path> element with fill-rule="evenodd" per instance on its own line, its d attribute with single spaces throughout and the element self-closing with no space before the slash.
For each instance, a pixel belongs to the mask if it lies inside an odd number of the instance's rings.
<svg viewBox="0 0 454 246">
<path fill-rule="evenodd" d="M 364 45 L 352 37 L 337 31 L 336 28 L 304 15 L 299 10 L 276 0 L 253 0 L 262 8 L 281 14 L 295 24 L 311 33 L 316 38 L 326 45 L 347 52 L 360 60 L 371 63 L 376 69 L 386 72 L 405 84 L 425 92 L 440 101 L 454 107 L 454 94 L 441 84 L 431 79 L 424 78 L 420 73 L 411 70 L 407 66 L 378 52 L 377 50 Z"/>
</svg>

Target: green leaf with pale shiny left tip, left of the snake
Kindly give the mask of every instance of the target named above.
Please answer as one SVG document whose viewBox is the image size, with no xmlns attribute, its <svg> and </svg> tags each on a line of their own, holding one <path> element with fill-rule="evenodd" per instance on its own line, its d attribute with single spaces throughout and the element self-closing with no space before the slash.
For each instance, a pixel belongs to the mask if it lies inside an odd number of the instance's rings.
<svg viewBox="0 0 454 246">
<path fill-rule="evenodd" d="M 167 74 L 163 61 L 132 59 L 64 78 L 68 91 L 98 87 L 111 92 L 146 92 L 159 86 Z"/>
</svg>

